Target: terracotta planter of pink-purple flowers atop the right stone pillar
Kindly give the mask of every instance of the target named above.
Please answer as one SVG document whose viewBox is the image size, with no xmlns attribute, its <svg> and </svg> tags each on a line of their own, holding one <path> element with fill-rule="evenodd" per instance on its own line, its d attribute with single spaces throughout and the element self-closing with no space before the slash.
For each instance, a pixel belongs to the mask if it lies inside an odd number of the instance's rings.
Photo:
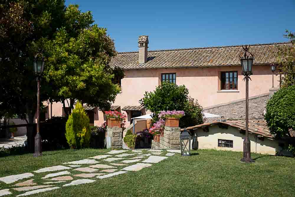
<svg viewBox="0 0 295 197">
<path fill-rule="evenodd" d="M 179 127 L 179 119 L 184 116 L 184 111 L 161 111 L 159 118 L 165 119 L 165 126 Z"/>
</svg>

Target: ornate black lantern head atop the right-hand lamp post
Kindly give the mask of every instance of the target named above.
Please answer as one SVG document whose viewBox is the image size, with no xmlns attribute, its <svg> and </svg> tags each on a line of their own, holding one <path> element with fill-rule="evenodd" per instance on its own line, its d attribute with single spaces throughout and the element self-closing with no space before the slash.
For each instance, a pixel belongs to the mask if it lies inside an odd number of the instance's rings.
<svg viewBox="0 0 295 197">
<path fill-rule="evenodd" d="M 249 46 L 245 45 L 242 46 L 244 49 L 245 53 L 244 56 L 240 55 L 239 58 L 241 60 L 241 65 L 242 65 L 242 74 L 244 76 L 250 76 L 252 75 L 252 66 L 253 66 L 253 61 L 254 61 L 254 55 L 249 52 Z"/>
</svg>

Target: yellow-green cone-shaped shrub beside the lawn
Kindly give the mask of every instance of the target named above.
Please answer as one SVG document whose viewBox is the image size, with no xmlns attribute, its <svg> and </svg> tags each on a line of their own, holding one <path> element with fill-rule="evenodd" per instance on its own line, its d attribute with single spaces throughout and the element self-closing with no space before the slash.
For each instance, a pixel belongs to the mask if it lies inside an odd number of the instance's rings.
<svg viewBox="0 0 295 197">
<path fill-rule="evenodd" d="M 77 149 L 89 146 L 91 138 L 89 118 L 81 102 L 76 103 L 75 109 L 68 118 L 65 130 L 65 137 L 70 146 L 75 146 Z"/>
</svg>

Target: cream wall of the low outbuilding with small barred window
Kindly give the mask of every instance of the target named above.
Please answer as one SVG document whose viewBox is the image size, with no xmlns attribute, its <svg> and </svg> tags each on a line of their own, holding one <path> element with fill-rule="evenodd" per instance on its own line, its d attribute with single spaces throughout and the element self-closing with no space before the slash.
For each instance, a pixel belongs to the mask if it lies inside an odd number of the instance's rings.
<svg viewBox="0 0 295 197">
<path fill-rule="evenodd" d="M 229 126 L 226 128 L 219 128 L 217 125 L 209 127 L 209 132 L 204 132 L 202 128 L 195 130 L 198 149 L 217 149 L 217 150 L 230 150 L 230 151 L 243 151 L 243 141 L 245 135 L 240 133 L 236 128 Z M 218 147 L 218 139 L 233 140 L 233 148 Z M 251 142 L 251 152 L 261 154 L 274 155 L 281 151 L 278 142 L 264 138 L 264 141 L 259 140 L 256 135 L 249 133 Z"/>
</svg>

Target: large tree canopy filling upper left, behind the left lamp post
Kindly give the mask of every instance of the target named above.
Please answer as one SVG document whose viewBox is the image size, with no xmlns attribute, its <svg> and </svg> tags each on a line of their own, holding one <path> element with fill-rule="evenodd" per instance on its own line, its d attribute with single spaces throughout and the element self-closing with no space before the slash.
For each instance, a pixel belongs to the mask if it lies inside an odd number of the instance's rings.
<svg viewBox="0 0 295 197">
<path fill-rule="evenodd" d="M 8 0 L 0 5 L 0 111 L 26 113 L 29 122 L 36 111 L 36 81 L 32 59 L 42 53 L 47 62 L 41 80 L 41 100 L 71 99 L 108 108 L 119 93 L 107 66 L 116 56 L 106 29 L 93 24 L 91 12 L 64 0 Z M 113 82 L 113 83 L 112 83 Z M 1 115 L 1 114 L 0 114 Z"/>
</svg>

